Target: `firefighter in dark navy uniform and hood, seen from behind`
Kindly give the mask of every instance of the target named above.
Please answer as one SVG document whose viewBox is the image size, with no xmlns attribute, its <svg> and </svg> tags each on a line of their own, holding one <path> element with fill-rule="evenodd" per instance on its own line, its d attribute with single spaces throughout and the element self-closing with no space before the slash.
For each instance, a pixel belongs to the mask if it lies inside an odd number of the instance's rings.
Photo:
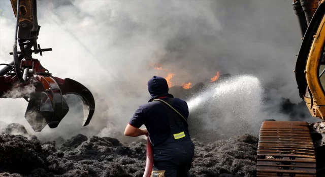
<svg viewBox="0 0 325 177">
<path fill-rule="evenodd" d="M 149 137 L 154 157 L 151 176 L 189 176 L 194 144 L 188 131 L 187 103 L 168 93 L 163 77 L 153 76 L 148 91 L 151 99 L 135 111 L 124 135 Z M 143 124 L 146 128 L 141 129 Z"/>
</svg>

